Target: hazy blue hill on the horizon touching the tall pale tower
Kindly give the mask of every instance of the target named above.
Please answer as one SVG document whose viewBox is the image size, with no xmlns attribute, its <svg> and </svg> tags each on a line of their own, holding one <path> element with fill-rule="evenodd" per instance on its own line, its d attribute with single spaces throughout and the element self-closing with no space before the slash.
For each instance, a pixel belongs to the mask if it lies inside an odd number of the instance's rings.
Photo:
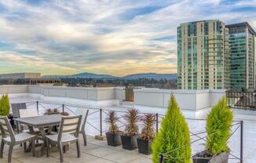
<svg viewBox="0 0 256 163">
<path fill-rule="evenodd" d="M 154 78 L 155 80 L 167 79 L 172 80 L 177 78 L 177 74 L 156 74 L 156 73 L 146 73 L 146 74 L 129 74 L 123 77 L 127 80 L 139 79 L 139 78 Z"/>
</svg>

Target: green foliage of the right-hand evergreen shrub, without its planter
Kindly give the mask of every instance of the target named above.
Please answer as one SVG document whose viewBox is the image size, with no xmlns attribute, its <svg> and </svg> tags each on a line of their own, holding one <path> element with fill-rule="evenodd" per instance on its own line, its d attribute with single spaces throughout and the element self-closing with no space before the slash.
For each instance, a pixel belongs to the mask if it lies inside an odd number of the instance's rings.
<svg viewBox="0 0 256 163">
<path fill-rule="evenodd" d="M 227 141 L 231 135 L 232 110 L 222 98 L 207 116 L 207 150 L 211 154 L 228 151 Z"/>
</svg>

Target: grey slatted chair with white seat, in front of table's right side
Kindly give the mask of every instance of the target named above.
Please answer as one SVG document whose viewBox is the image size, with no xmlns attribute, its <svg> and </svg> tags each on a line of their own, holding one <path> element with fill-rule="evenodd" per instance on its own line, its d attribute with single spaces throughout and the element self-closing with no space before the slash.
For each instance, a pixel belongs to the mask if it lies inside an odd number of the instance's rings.
<svg viewBox="0 0 256 163">
<path fill-rule="evenodd" d="M 49 144 L 56 144 L 60 150 L 60 162 L 64 161 L 64 146 L 76 143 L 78 158 L 81 156 L 79 144 L 79 129 L 82 115 L 62 117 L 58 134 L 46 136 L 46 156 L 49 157 Z"/>
</svg>

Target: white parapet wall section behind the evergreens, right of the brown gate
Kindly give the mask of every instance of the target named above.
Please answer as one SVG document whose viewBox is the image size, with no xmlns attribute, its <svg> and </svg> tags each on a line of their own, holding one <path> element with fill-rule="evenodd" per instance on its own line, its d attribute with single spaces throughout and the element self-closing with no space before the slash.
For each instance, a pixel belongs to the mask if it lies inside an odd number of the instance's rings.
<svg viewBox="0 0 256 163">
<path fill-rule="evenodd" d="M 171 94 L 174 95 L 185 117 L 206 118 L 210 108 L 225 96 L 225 90 L 134 89 L 133 104 L 141 110 L 146 107 L 166 110 Z"/>
</svg>

